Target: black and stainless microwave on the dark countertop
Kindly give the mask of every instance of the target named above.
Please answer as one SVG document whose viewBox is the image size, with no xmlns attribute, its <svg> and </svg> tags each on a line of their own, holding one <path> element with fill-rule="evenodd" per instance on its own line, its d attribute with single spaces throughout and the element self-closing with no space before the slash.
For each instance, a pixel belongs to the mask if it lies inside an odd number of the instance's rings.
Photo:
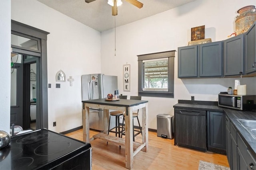
<svg viewBox="0 0 256 170">
<path fill-rule="evenodd" d="M 256 95 L 219 94 L 218 106 L 237 110 L 256 109 Z"/>
</svg>

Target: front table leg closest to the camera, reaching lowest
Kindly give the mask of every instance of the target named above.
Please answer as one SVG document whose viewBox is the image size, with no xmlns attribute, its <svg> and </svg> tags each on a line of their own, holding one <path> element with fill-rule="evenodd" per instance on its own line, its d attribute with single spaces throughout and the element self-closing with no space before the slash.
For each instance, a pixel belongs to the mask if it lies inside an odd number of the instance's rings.
<svg viewBox="0 0 256 170">
<path fill-rule="evenodd" d="M 128 112 L 128 115 L 126 114 Z M 132 107 L 125 111 L 125 167 L 132 169 L 133 162 L 133 133 L 132 133 Z"/>
</svg>

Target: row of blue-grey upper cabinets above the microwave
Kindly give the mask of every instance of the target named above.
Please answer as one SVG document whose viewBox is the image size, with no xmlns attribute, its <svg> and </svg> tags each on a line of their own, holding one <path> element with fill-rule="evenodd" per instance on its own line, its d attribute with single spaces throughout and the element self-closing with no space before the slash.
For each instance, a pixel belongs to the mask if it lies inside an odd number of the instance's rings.
<svg viewBox="0 0 256 170">
<path fill-rule="evenodd" d="M 224 41 L 178 47 L 178 78 L 255 76 L 254 73 L 256 22 L 246 33 Z"/>
</svg>

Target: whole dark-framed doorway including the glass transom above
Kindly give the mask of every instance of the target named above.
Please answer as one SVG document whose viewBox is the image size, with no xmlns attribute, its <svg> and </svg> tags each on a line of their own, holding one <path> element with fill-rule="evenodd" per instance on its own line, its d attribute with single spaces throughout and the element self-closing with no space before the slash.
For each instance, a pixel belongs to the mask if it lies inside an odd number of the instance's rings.
<svg viewBox="0 0 256 170">
<path fill-rule="evenodd" d="M 11 21 L 12 53 L 18 62 L 12 65 L 11 125 L 48 129 L 47 35 L 49 33 L 29 25 Z M 12 57 L 11 57 L 12 58 Z M 13 61 L 14 60 L 13 58 Z M 33 106 L 31 106 L 33 105 Z M 32 113 L 30 113 L 32 112 Z M 33 129 L 34 129 L 33 128 Z"/>
</svg>

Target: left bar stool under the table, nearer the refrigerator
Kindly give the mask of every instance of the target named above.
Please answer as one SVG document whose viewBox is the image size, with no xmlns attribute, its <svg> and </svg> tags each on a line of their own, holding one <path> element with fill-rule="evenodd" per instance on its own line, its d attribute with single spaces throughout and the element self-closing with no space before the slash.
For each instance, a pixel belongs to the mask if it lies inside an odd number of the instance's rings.
<svg viewBox="0 0 256 170">
<path fill-rule="evenodd" d="M 119 96 L 119 98 L 120 99 L 127 99 L 127 96 Z M 112 133 L 116 134 L 116 137 L 117 137 L 117 134 L 118 134 L 118 137 L 120 137 L 120 134 L 122 134 L 122 131 L 120 131 L 120 121 L 119 121 L 119 118 L 123 114 L 124 114 L 124 111 L 118 111 L 118 110 L 110 111 L 110 113 L 109 113 L 109 122 L 108 122 L 108 134 L 109 134 L 109 132 L 112 132 Z M 111 116 L 115 116 L 116 117 L 116 125 L 112 129 L 110 129 L 110 117 Z M 113 129 L 115 129 L 115 130 L 113 130 Z M 108 145 L 108 142 L 107 142 L 107 145 Z M 119 147 L 121 148 L 121 146 L 119 146 Z"/>
</svg>

